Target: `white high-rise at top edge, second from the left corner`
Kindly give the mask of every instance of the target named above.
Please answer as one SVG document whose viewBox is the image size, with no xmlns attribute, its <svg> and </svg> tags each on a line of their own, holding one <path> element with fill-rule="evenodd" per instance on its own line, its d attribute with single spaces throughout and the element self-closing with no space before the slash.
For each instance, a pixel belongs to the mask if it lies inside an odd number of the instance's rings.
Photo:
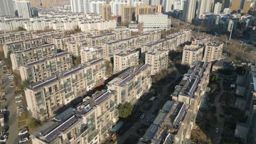
<svg viewBox="0 0 256 144">
<path fill-rule="evenodd" d="M 24 18 L 32 17 L 32 10 L 29 1 L 17 1 L 16 8 L 18 10 L 18 15 Z"/>
</svg>

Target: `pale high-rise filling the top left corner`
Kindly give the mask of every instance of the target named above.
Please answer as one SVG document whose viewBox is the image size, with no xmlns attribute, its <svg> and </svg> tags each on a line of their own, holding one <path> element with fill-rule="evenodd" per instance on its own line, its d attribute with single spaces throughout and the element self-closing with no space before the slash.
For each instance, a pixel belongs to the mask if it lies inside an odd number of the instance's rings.
<svg viewBox="0 0 256 144">
<path fill-rule="evenodd" d="M 12 0 L 0 0 L 0 16 L 14 16 L 14 7 Z"/>
</svg>

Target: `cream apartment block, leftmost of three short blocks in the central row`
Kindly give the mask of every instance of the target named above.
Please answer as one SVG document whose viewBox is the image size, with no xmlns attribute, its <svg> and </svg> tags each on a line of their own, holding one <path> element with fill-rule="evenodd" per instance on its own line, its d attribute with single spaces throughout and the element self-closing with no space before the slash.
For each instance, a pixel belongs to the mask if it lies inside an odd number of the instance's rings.
<svg viewBox="0 0 256 144">
<path fill-rule="evenodd" d="M 80 51 L 81 63 L 93 61 L 94 59 L 104 58 L 104 49 L 100 46 L 97 47 L 85 47 Z"/>
</svg>

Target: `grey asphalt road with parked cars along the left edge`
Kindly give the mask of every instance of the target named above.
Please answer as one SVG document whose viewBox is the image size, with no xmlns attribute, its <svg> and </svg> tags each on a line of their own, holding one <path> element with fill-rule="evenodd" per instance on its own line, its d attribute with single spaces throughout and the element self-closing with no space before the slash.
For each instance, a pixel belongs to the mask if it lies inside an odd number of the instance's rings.
<svg viewBox="0 0 256 144">
<path fill-rule="evenodd" d="M 9 126 L 9 136 L 6 143 L 16 144 L 18 143 L 18 121 L 16 117 L 16 104 L 15 104 L 15 95 L 14 89 L 9 86 L 9 80 L 6 74 L 3 73 L 3 68 L 0 69 L 1 79 L 4 82 L 5 93 L 7 98 L 7 106 L 9 111 L 9 121 L 5 125 Z M 1 107 L 2 109 L 2 107 Z"/>
</svg>

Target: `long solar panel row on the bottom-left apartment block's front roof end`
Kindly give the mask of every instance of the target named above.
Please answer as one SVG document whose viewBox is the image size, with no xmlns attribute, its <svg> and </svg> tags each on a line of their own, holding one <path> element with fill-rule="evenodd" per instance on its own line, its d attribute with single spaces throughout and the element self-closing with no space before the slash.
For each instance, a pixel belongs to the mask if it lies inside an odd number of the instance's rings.
<svg viewBox="0 0 256 144">
<path fill-rule="evenodd" d="M 53 138 L 58 135 L 60 133 L 60 131 L 63 131 L 65 129 L 67 129 L 68 127 L 70 127 L 70 125 L 72 125 L 73 123 L 75 123 L 77 121 L 77 118 L 75 118 L 75 116 L 72 116 L 71 118 L 69 118 L 67 121 L 63 122 L 61 125 L 59 125 L 59 127 L 55 128 L 54 130 L 50 131 L 50 133 L 48 133 L 47 135 L 44 136 L 44 139 L 46 141 L 51 141 L 53 140 Z"/>
</svg>

